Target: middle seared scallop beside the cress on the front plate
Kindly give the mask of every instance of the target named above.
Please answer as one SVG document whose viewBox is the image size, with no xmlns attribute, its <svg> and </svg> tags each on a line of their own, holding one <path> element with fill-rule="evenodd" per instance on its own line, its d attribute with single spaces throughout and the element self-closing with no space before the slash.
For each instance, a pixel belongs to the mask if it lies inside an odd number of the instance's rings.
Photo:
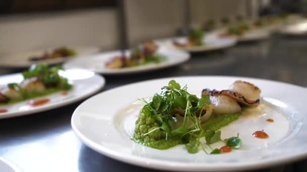
<svg viewBox="0 0 307 172">
<path fill-rule="evenodd" d="M 226 95 L 210 96 L 210 101 L 214 105 L 213 114 L 229 114 L 241 112 L 238 102 Z"/>
</svg>

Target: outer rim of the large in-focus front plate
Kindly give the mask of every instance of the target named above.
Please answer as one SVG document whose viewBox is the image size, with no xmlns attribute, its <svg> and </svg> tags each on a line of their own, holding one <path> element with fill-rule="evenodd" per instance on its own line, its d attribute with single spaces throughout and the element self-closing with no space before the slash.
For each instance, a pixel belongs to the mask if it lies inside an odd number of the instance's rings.
<svg viewBox="0 0 307 172">
<path fill-rule="evenodd" d="M 241 78 L 241 79 L 257 79 L 257 80 L 262 80 L 262 81 L 271 81 L 271 82 L 276 82 L 278 84 L 286 84 L 291 87 L 297 87 L 300 89 L 304 89 L 307 91 L 307 88 L 301 87 L 300 85 L 295 85 L 292 83 L 287 83 L 283 81 L 278 81 L 278 80 L 270 80 L 270 79 L 263 79 L 263 78 L 255 78 L 255 77 L 244 77 L 244 76 L 226 76 L 226 75 L 188 75 L 188 76 L 174 76 L 174 77 L 162 77 L 162 78 L 156 78 L 156 79 L 148 79 L 148 80 L 143 80 L 143 81 L 138 81 L 134 83 L 128 83 L 121 85 L 119 87 L 107 90 L 105 92 L 101 92 L 92 98 L 98 97 L 102 94 L 105 94 L 106 92 L 111 92 L 116 89 L 120 89 L 123 87 L 129 87 L 133 84 L 139 84 L 142 82 L 147 82 L 147 81 L 154 81 L 154 80 L 161 80 L 161 79 L 176 79 L 176 78 L 184 78 L 184 77 L 228 77 L 228 78 Z M 77 111 L 79 108 L 87 103 L 87 101 L 90 101 L 90 99 L 84 101 L 81 103 L 73 112 L 73 115 L 71 117 L 71 126 L 76 134 L 76 136 L 82 141 L 83 144 L 88 146 L 89 148 L 95 150 L 96 152 L 108 156 L 110 158 L 113 158 L 115 160 L 119 160 L 121 162 L 129 163 L 132 165 L 137 165 L 137 166 L 142 166 L 146 168 L 152 168 L 152 169 L 162 169 L 162 170 L 178 170 L 178 171 L 235 171 L 235 170 L 247 170 L 247 169 L 259 169 L 263 167 L 268 167 L 268 166 L 274 166 L 277 164 L 281 163 L 290 163 L 295 160 L 301 159 L 303 157 L 307 157 L 307 152 L 301 153 L 301 154 L 296 154 L 296 155 L 288 155 L 288 156 L 283 156 L 280 158 L 275 158 L 275 159 L 266 159 L 266 161 L 259 162 L 255 165 L 254 162 L 237 162 L 237 163 L 227 163 L 225 166 L 225 163 L 223 163 L 223 168 L 220 168 L 219 164 L 206 164 L 203 165 L 203 163 L 199 164 L 192 164 L 192 165 L 186 165 L 185 163 L 178 163 L 176 161 L 168 161 L 168 160 L 161 160 L 161 159 L 153 159 L 153 158 L 147 158 L 147 157 L 140 157 L 140 156 L 135 156 L 128 153 L 122 154 L 116 150 L 108 149 L 104 146 L 101 146 L 94 141 L 91 141 L 88 139 L 85 135 L 83 135 L 78 129 L 76 124 L 74 123 L 74 119 L 76 118 Z M 149 162 L 150 161 L 150 162 Z M 146 163 L 147 162 L 147 163 Z M 165 163 L 168 162 L 168 163 Z M 239 169 L 238 169 L 239 168 Z"/>
</svg>

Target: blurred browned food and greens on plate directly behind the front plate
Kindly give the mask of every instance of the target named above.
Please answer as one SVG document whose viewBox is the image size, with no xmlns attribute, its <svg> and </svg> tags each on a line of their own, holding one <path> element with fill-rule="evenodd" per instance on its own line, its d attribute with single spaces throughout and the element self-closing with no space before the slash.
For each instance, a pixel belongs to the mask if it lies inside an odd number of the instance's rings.
<svg viewBox="0 0 307 172">
<path fill-rule="evenodd" d="M 157 53 L 157 50 L 158 45 L 152 41 L 145 41 L 139 48 L 132 50 L 130 57 L 120 55 L 107 61 L 106 68 L 117 69 L 166 61 L 167 57 Z"/>
</svg>

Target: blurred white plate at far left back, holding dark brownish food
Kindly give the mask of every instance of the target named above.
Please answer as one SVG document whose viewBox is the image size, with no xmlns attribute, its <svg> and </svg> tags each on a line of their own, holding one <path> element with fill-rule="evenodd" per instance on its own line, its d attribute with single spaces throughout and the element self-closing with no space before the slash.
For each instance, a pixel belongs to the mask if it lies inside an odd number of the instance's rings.
<svg viewBox="0 0 307 172">
<path fill-rule="evenodd" d="M 98 53 L 100 49 L 98 47 L 81 47 L 81 46 L 68 46 L 69 48 L 73 48 L 77 55 L 74 57 L 65 57 L 65 58 L 55 58 L 55 59 L 47 59 L 47 60 L 39 60 L 39 61 L 29 61 L 29 57 L 32 56 L 40 56 L 44 52 L 52 52 L 55 48 L 46 48 L 41 50 L 33 50 L 28 52 L 20 52 L 16 54 L 4 54 L 1 55 L 1 63 L 0 67 L 8 67 L 8 68 L 26 68 L 36 63 L 46 63 L 48 65 L 63 63 L 64 61 L 70 58 L 83 57 L 86 55 L 91 55 Z"/>
</svg>

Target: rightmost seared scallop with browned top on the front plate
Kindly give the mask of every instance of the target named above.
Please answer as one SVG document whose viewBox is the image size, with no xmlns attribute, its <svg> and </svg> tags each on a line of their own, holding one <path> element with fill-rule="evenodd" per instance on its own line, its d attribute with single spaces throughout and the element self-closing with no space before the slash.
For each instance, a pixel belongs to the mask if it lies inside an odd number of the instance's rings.
<svg viewBox="0 0 307 172">
<path fill-rule="evenodd" d="M 261 90 L 254 84 L 237 80 L 229 88 L 230 91 L 239 93 L 248 101 L 257 101 L 260 98 Z"/>
</svg>

